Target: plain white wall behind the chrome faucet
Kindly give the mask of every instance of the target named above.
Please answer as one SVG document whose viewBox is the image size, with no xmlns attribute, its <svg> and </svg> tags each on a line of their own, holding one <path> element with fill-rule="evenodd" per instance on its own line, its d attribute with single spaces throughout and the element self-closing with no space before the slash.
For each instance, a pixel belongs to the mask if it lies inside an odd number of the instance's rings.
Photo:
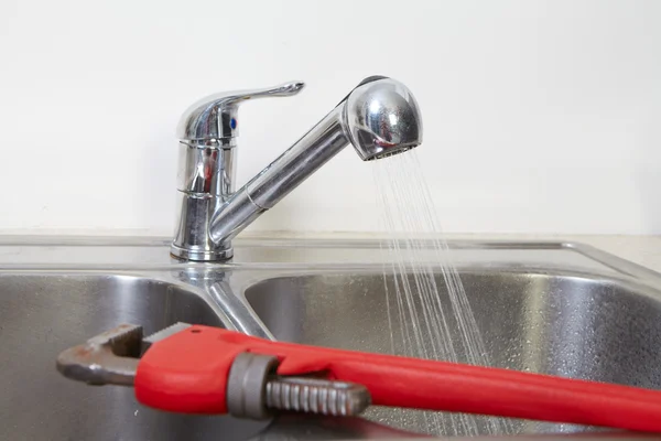
<svg viewBox="0 0 661 441">
<path fill-rule="evenodd" d="M 446 230 L 661 234 L 660 23 L 654 0 L 3 0 L 0 232 L 170 235 L 193 100 L 307 83 L 242 107 L 242 183 L 382 74 L 420 101 Z M 376 228 L 370 166 L 345 150 L 253 228 Z"/>
</svg>

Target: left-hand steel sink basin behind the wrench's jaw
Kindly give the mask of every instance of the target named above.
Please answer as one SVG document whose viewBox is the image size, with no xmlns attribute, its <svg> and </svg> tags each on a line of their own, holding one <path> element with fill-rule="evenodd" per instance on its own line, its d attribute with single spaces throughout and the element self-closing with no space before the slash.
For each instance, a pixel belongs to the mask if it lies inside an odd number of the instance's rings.
<svg viewBox="0 0 661 441">
<path fill-rule="evenodd" d="M 152 333 L 177 321 L 221 326 L 192 288 L 150 278 L 0 273 L 0 438 L 15 440 L 246 439 L 264 423 L 140 406 L 131 388 L 90 387 L 55 370 L 66 347 L 119 323 Z"/>
</svg>

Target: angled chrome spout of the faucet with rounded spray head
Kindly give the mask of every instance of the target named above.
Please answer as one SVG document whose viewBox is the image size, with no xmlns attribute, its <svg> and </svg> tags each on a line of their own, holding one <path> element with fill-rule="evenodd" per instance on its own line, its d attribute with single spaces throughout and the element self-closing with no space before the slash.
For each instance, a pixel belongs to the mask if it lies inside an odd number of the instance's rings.
<svg viewBox="0 0 661 441">
<path fill-rule="evenodd" d="M 421 142 L 422 122 L 413 95 L 394 79 L 367 78 L 218 207 L 210 220 L 212 240 L 234 238 L 349 143 L 362 160 L 370 161 Z"/>
</svg>

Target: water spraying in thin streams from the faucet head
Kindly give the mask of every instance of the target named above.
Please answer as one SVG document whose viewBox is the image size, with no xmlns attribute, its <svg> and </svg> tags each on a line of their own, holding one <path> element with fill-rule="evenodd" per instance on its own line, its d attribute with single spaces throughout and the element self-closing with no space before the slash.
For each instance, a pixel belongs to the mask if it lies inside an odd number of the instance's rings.
<svg viewBox="0 0 661 441">
<path fill-rule="evenodd" d="M 488 352 L 459 273 L 442 236 L 438 216 L 415 150 L 373 161 L 384 230 L 383 269 L 391 353 L 488 366 Z M 465 413 L 402 413 L 402 428 L 431 434 L 508 434 L 509 421 Z"/>
</svg>

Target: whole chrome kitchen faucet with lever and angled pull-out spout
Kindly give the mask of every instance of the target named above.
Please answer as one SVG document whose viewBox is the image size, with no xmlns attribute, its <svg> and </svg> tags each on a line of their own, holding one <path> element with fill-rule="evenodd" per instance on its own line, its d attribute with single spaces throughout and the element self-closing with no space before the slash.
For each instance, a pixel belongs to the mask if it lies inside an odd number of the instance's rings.
<svg viewBox="0 0 661 441">
<path fill-rule="evenodd" d="M 411 92 L 384 76 L 365 78 L 328 115 L 270 165 L 235 191 L 238 107 L 248 99 L 296 95 L 302 82 L 220 93 L 182 116 L 177 203 L 171 252 L 196 261 L 228 260 L 231 239 L 349 143 L 371 161 L 422 142 L 420 109 Z"/>
</svg>

